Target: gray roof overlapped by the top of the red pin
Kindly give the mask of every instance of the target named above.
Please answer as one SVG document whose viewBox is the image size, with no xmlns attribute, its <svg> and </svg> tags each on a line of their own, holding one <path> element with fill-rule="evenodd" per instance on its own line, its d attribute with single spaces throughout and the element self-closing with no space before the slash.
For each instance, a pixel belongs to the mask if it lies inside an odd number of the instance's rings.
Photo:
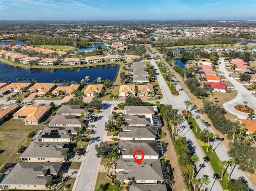
<svg viewBox="0 0 256 191">
<path fill-rule="evenodd" d="M 118 148 L 122 149 L 122 155 L 133 155 L 136 150 L 142 150 L 146 156 L 159 156 L 156 141 L 120 140 Z M 138 152 L 136 155 L 141 154 Z"/>
</svg>

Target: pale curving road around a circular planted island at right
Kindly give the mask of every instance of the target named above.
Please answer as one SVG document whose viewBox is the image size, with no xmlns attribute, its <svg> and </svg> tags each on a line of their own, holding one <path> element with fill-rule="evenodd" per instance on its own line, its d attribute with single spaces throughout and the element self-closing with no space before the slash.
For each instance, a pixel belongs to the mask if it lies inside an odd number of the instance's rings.
<svg viewBox="0 0 256 191">
<path fill-rule="evenodd" d="M 226 79 L 230 81 L 234 85 L 234 87 L 237 89 L 238 93 L 237 96 L 230 100 L 229 102 L 226 102 L 223 104 L 224 109 L 226 109 L 228 112 L 237 115 L 240 118 L 246 118 L 247 113 L 240 112 L 234 108 L 235 105 L 244 105 L 244 101 L 248 102 L 246 105 L 248 105 L 250 108 L 253 108 L 254 111 L 256 111 L 256 97 L 249 93 L 249 91 L 241 85 L 236 79 L 233 77 L 229 77 L 230 75 L 228 71 L 226 70 L 225 64 L 224 64 L 224 58 L 219 58 L 221 64 L 219 65 L 220 71 L 224 74 Z"/>
</svg>

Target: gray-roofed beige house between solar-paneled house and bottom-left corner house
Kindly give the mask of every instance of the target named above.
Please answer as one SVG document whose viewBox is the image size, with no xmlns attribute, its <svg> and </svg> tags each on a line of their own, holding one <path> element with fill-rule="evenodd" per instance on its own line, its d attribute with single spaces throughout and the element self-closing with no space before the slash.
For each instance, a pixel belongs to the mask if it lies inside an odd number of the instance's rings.
<svg viewBox="0 0 256 191">
<path fill-rule="evenodd" d="M 64 162 L 64 150 L 69 150 L 69 142 L 32 141 L 19 158 L 22 162 Z"/>
</svg>

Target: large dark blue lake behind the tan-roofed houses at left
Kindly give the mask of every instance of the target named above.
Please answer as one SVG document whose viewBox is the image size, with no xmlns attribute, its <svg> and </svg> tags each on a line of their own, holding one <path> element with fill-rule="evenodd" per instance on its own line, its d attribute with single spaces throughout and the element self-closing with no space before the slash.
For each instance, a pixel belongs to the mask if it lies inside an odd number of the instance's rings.
<svg viewBox="0 0 256 191">
<path fill-rule="evenodd" d="M 38 68 L 22 68 L 14 67 L 0 61 L 0 78 L 4 81 L 10 78 L 10 81 L 15 82 L 17 78 L 37 78 L 38 82 L 52 83 L 57 79 L 80 82 L 85 76 L 90 77 L 92 82 L 98 77 L 102 80 L 110 79 L 114 81 L 118 75 L 119 65 L 102 65 L 95 67 L 80 67 L 67 69 L 38 69 Z"/>
</svg>

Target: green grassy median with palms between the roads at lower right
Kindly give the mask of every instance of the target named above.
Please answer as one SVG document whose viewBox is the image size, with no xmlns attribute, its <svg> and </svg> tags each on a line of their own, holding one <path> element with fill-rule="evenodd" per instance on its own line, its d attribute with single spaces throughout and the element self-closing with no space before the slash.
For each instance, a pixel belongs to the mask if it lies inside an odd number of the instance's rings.
<svg viewBox="0 0 256 191">
<path fill-rule="evenodd" d="M 188 119 L 188 114 L 183 114 L 184 117 L 186 118 L 188 124 L 190 125 L 190 128 L 192 130 L 192 132 L 194 133 L 196 139 L 198 140 L 200 146 L 202 147 L 202 149 L 204 150 L 204 154 L 206 155 L 206 157 L 208 157 L 208 161 L 210 162 L 212 169 L 214 170 L 214 173 L 216 174 L 216 179 L 220 179 L 221 175 L 222 175 L 222 166 L 220 165 L 220 159 L 218 158 L 218 156 L 216 155 L 215 152 L 212 152 L 212 147 L 210 147 L 210 149 L 207 151 L 207 143 L 203 142 L 200 140 L 200 136 L 202 135 L 202 133 L 200 133 L 200 128 L 198 127 L 198 130 L 196 132 L 196 120 L 194 120 L 194 118 L 190 117 Z M 190 116 L 192 116 L 190 114 Z M 228 189 L 228 173 L 225 171 L 223 179 L 219 180 L 220 184 L 222 185 L 222 188 L 224 190 Z"/>
</svg>

